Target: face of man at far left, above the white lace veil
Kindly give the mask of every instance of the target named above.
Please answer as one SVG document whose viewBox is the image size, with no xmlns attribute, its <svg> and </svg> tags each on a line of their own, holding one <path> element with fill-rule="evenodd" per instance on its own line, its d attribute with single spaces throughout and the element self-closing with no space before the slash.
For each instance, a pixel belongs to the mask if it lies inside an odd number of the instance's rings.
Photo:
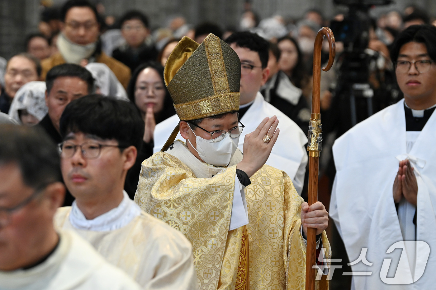
<svg viewBox="0 0 436 290">
<path fill-rule="evenodd" d="M 7 64 L 4 75 L 4 89 L 10 98 L 14 98 L 15 93 L 24 84 L 38 79 L 34 62 L 27 57 L 17 55 L 12 57 Z"/>
</svg>

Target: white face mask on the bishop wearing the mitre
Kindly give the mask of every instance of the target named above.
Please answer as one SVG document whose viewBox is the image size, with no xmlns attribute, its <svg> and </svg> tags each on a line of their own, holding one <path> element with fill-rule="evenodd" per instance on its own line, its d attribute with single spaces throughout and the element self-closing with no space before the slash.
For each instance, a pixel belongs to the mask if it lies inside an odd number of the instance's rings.
<svg viewBox="0 0 436 290">
<path fill-rule="evenodd" d="M 191 130 L 191 126 L 188 126 Z M 192 130 L 194 133 L 194 130 Z M 194 133 L 195 135 L 195 133 Z M 226 166 L 230 163 L 230 160 L 235 154 L 238 148 L 238 138 L 230 138 L 230 133 L 225 133 L 224 139 L 218 142 L 213 142 L 211 139 L 203 139 L 200 136 L 195 135 L 195 141 L 197 142 L 197 148 L 191 144 L 192 148 L 198 153 L 204 162 L 214 166 Z"/>
</svg>

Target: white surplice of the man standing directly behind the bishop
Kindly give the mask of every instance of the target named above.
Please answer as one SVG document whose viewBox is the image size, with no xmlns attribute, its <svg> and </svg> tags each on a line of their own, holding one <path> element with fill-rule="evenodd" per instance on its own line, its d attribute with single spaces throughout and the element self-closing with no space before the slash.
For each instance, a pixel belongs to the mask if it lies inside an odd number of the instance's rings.
<svg viewBox="0 0 436 290">
<path fill-rule="evenodd" d="M 264 118 L 273 115 L 276 115 L 279 120 L 280 134 L 266 164 L 286 172 L 292 179 L 296 191 L 301 195 L 308 160 L 307 150 L 304 147 L 307 144 L 307 136 L 288 116 L 266 102 L 260 92 L 256 94 L 253 104 L 240 120 L 245 128 L 239 137 L 238 148 L 242 151 L 245 135 L 253 132 Z M 156 125 L 153 135 L 154 153 L 162 149 L 179 121 L 179 117 L 174 115 Z M 183 140 L 180 133 L 177 139 Z"/>
</svg>

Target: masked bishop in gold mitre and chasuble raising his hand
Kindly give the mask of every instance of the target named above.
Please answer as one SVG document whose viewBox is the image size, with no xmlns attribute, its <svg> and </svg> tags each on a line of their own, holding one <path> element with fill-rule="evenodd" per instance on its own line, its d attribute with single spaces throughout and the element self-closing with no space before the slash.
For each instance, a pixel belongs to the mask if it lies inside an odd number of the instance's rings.
<svg viewBox="0 0 436 290">
<path fill-rule="evenodd" d="M 142 163 L 134 201 L 190 240 L 197 289 L 304 289 L 307 227 L 329 253 L 328 213 L 265 165 L 279 135 L 276 116 L 245 135 L 244 155 L 238 149 L 240 79 L 238 54 L 215 35 L 177 44 L 164 80 L 181 121 Z M 186 143 L 174 141 L 179 132 Z"/>
</svg>

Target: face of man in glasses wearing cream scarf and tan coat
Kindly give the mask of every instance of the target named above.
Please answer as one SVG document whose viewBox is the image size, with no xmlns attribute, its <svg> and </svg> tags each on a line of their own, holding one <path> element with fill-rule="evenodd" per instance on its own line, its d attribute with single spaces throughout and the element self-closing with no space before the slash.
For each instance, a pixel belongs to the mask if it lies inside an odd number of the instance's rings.
<svg viewBox="0 0 436 290">
<path fill-rule="evenodd" d="M 86 45 L 97 41 L 99 23 L 89 7 L 73 7 L 65 15 L 62 32 L 73 43 Z"/>
</svg>

